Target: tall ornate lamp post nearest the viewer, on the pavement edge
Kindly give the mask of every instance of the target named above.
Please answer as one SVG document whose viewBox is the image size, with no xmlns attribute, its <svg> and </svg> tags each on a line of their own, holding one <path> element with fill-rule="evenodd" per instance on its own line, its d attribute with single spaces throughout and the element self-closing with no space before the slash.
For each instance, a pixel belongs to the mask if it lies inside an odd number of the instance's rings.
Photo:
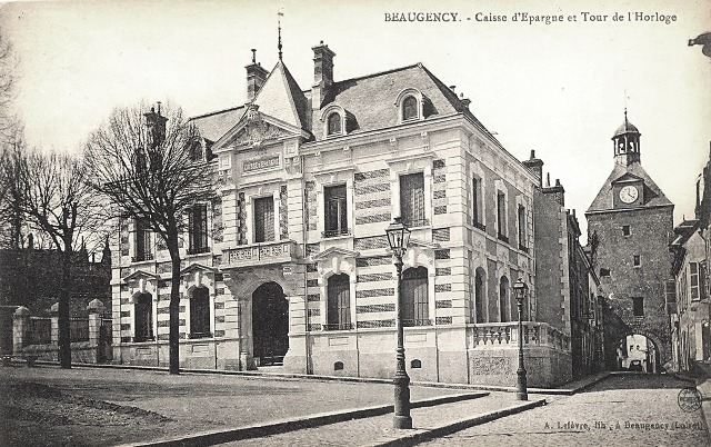
<svg viewBox="0 0 711 447">
<path fill-rule="evenodd" d="M 388 244 L 392 250 L 393 264 L 398 271 L 398 314 L 395 318 L 395 329 L 398 331 L 397 369 L 392 380 L 395 386 L 395 415 L 393 418 L 394 428 L 412 428 L 412 417 L 410 417 L 410 377 L 404 368 L 404 335 L 402 330 L 402 256 L 410 242 L 410 230 L 402 222 L 402 218 L 395 217 L 385 229 Z"/>
</svg>

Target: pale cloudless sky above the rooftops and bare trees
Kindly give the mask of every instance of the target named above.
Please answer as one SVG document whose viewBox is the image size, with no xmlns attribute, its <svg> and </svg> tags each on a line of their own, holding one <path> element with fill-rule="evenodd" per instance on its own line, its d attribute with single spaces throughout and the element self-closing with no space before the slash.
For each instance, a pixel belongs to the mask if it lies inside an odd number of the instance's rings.
<svg viewBox="0 0 711 447">
<path fill-rule="evenodd" d="M 535 149 L 583 227 L 612 169 L 610 138 L 627 103 L 642 133 L 642 166 L 675 203 L 674 224 L 693 217 L 695 178 L 711 141 L 711 59 L 687 41 L 711 30 L 708 0 L 281 3 L 284 62 L 302 89 L 311 87 L 311 47 L 320 40 L 337 53 L 337 81 L 422 62 L 472 100 L 472 112 L 511 153 L 527 159 Z M 79 152 L 113 107 L 141 99 L 170 100 L 189 116 L 243 103 L 250 49 L 266 68 L 277 62 L 279 7 L 268 0 L 0 6 L 0 29 L 20 58 L 17 105 L 29 142 Z M 384 20 L 387 12 L 412 11 L 457 12 L 461 21 Z M 608 19 L 584 22 L 583 11 Z M 477 12 L 509 21 L 477 22 Z M 512 22 L 514 12 L 565 21 Z M 625 21 L 612 21 L 615 12 Z M 630 22 L 628 12 L 677 20 Z M 572 14 L 577 22 L 567 21 Z"/>
</svg>

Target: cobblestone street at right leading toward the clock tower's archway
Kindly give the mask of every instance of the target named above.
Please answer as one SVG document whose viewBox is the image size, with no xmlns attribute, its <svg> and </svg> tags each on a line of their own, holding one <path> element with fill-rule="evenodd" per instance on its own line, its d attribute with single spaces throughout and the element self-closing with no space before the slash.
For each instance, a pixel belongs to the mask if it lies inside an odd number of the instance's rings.
<svg viewBox="0 0 711 447">
<path fill-rule="evenodd" d="M 687 386 L 668 376 L 611 376 L 588 391 L 423 445 L 708 446 L 701 413 L 678 405 Z"/>
</svg>

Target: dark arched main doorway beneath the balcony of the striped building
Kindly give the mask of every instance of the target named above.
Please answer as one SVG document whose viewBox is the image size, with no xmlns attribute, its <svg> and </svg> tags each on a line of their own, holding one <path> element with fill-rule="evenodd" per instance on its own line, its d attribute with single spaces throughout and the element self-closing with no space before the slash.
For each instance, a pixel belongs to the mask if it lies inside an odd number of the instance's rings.
<svg viewBox="0 0 711 447">
<path fill-rule="evenodd" d="M 252 347 L 258 365 L 281 365 L 289 350 L 289 301 L 277 282 L 252 294 Z"/>
</svg>

